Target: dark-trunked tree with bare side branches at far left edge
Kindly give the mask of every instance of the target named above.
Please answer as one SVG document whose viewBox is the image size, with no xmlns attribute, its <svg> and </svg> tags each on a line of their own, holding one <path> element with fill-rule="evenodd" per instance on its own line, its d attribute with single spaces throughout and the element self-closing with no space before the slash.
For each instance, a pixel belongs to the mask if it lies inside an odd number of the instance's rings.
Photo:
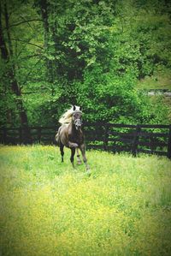
<svg viewBox="0 0 171 256">
<path fill-rule="evenodd" d="M 19 70 L 21 63 L 19 59 L 22 57 L 23 51 L 26 51 L 26 45 L 34 44 L 30 43 L 27 39 L 15 38 L 19 33 L 15 28 L 21 27 L 22 24 L 29 24 L 29 22 L 35 21 L 35 19 L 27 21 L 23 18 L 24 21 L 15 21 L 15 18 L 13 18 L 11 20 L 11 16 L 17 16 L 17 8 L 20 4 L 21 1 L 9 3 L 7 0 L 0 3 L 1 93 L 5 96 L 2 103 L 2 114 L 3 116 L 5 114 L 5 117 L 1 118 L 1 122 L 3 125 L 7 125 L 8 122 L 10 124 L 11 121 L 12 125 L 20 123 L 22 127 L 26 128 L 28 133 L 28 116 L 22 97 L 23 85 L 21 85 L 20 79 L 21 73 Z M 22 30 L 20 30 L 20 33 L 22 34 Z M 19 46 L 18 43 L 21 43 L 22 46 Z M 12 120 L 9 120 L 9 116 L 12 116 Z"/>
</svg>

